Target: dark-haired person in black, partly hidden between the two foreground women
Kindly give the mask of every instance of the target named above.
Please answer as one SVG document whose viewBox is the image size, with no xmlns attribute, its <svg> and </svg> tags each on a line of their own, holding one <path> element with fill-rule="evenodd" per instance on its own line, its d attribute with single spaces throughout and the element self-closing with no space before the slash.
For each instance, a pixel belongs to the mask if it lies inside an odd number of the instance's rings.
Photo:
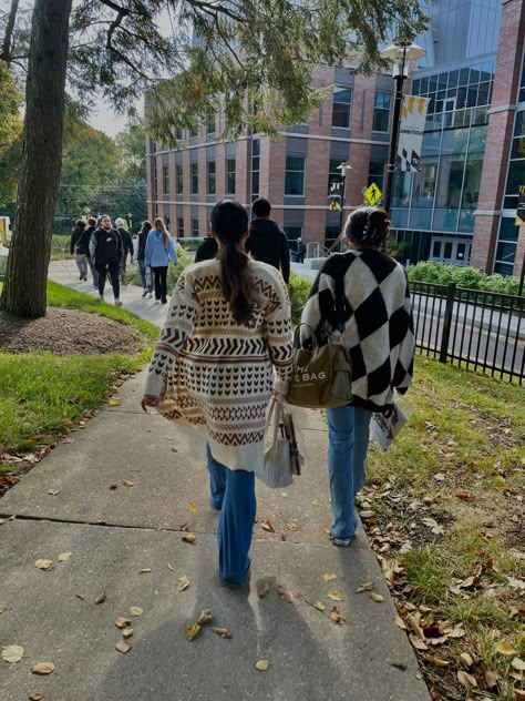
<svg viewBox="0 0 525 701">
<path fill-rule="evenodd" d="M 256 215 L 249 227 L 246 251 L 254 258 L 280 270 L 286 284 L 290 280 L 290 248 L 284 231 L 270 220 L 271 205 L 265 197 L 258 197 L 251 205 Z"/>
</svg>

